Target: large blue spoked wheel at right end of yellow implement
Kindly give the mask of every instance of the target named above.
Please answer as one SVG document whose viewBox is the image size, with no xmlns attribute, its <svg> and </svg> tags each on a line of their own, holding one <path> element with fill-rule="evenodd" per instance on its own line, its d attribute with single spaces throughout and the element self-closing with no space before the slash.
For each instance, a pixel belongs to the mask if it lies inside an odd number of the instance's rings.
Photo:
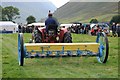
<svg viewBox="0 0 120 80">
<path fill-rule="evenodd" d="M 97 43 L 100 43 L 97 59 L 100 63 L 106 63 L 109 54 L 108 38 L 104 32 L 97 34 Z"/>
</svg>

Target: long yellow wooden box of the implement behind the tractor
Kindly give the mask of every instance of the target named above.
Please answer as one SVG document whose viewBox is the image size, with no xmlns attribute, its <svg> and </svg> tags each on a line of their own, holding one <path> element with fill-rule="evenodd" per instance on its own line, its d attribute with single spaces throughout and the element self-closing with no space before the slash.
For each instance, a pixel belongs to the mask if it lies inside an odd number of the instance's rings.
<svg viewBox="0 0 120 80">
<path fill-rule="evenodd" d="M 97 53 L 99 43 L 25 43 L 27 51 L 62 51 L 64 50 L 90 50 Z"/>
</svg>

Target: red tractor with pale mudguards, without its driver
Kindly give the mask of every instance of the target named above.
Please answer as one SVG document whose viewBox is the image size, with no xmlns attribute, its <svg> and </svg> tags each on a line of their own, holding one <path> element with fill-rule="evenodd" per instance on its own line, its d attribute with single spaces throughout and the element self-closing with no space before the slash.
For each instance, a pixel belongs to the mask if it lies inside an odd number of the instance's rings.
<svg viewBox="0 0 120 80">
<path fill-rule="evenodd" d="M 55 30 L 51 27 L 48 32 L 45 27 L 36 28 L 33 39 L 35 43 L 72 43 L 72 37 L 67 28 Z"/>
</svg>

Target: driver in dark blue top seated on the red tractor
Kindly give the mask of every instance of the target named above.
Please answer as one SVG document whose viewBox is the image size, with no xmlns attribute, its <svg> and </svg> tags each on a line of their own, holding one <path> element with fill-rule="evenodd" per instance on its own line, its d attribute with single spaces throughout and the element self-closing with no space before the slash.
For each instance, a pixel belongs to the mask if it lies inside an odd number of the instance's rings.
<svg viewBox="0 0 120 80">
<path fill-rule="evenodd" d="M 55 32 L 57 34 L 58 22 L 52 16 L 53 16 L 53 14 L 49 11 L 48 18 L 45 21 L 46 32 L 48 33 L 48 30 L 53 29 L 53 30 L 55 30 Z"/>
</svg>

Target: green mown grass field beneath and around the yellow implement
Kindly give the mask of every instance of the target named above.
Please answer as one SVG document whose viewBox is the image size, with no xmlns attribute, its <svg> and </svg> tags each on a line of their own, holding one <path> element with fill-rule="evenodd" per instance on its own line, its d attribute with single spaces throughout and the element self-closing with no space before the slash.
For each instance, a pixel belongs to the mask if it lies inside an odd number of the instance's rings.
<svg viewBox="0 0 120 80">
<path fill-rule="evenodd" d="M 96 39 L 80 34 L 72 34 L 72 37 L 76 43 Z M 30 38 L 31 34 L 24 34 L 24 42 Z M 69 57 L 25 59 L 23 67 L 18 65 L 17 34 L 3 34 L 1 41 L 2 78 L 118 78 L 117 37 L 109 37 L 110 53 L 106 64 L 98 63 L 96 57 Z"/>
</svg>

